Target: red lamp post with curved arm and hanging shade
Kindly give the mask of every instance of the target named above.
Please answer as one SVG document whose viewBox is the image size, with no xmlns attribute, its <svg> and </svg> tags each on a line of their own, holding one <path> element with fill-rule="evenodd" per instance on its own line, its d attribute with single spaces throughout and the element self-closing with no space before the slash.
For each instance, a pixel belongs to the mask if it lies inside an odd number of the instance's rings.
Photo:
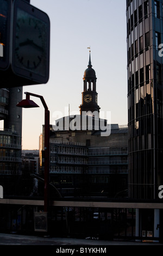
<svg viewBox="0 0 163 256">
<path fill-rule="evenodd" d="M 43 107 L 45 108 L 45 130 L 44 130 L 44 151 L 45 151 L 45 169 L 44 169 L 44 211 L 48 212 L 49 206 L 49 116 L 50 112 L 46 105 L 43 96 L 25 92 L 26 99 L 19 102 L 17 107 L 32 108 L 39 107 L 33 100 L 30 100 L 30 96 L 39 97 Z"/>
</svg>

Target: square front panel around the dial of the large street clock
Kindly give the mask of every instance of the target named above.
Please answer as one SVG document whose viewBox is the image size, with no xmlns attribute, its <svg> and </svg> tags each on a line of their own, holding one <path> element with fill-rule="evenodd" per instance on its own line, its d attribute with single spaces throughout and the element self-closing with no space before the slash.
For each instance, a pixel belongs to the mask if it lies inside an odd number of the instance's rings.
<svg viewBox="0 0 163 256">
<path fill-rule="evenodd" d="M 49 75 L 48 16 L 26 2 L 16 1 L 14 17 L 12 47 L 14 72 L 31 80 L 47 82 Z"/>
</svg>

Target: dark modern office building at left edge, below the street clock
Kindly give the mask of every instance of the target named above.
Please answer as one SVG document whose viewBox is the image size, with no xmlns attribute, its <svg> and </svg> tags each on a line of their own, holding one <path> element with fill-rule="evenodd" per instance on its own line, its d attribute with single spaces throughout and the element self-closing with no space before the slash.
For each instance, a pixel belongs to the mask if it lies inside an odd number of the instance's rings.
<svg viewBox="0 0 163 256">
<path fill-rule="evenodd" d="M 22 87 L 0 89 L 0 182 L 4 194 L 15 193 L 22 173 Z"/>
</svg>

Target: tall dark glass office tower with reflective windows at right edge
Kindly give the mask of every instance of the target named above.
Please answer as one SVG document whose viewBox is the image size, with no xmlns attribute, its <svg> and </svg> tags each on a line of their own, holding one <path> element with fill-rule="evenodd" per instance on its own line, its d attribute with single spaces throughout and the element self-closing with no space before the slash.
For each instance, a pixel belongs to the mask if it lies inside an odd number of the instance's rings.
<svg viewBox="0 0 163 256">
<path fill-rule="evenodd" d="M 163 1 L 127 0 L 129 197 L 157 199 L 163 185 Z"/>
</svg>

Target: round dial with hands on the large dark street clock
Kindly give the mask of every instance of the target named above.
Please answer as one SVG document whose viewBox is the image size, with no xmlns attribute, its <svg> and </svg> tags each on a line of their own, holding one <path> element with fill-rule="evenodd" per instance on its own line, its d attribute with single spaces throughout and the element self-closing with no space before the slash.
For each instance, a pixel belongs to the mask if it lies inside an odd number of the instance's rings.
<svg viewBox="0 0 163 256">
<path fill-rule="evenodd" d="M 38 72 L 43 65 L 43 59 L 46 57 L 44 54 L 45 41 L 41 31 L 42 25 L 34 17 L 26 15 L 26 17 L 20 17 L 17 20 L 16 26 L 16 64 Z"/>
</svg>

